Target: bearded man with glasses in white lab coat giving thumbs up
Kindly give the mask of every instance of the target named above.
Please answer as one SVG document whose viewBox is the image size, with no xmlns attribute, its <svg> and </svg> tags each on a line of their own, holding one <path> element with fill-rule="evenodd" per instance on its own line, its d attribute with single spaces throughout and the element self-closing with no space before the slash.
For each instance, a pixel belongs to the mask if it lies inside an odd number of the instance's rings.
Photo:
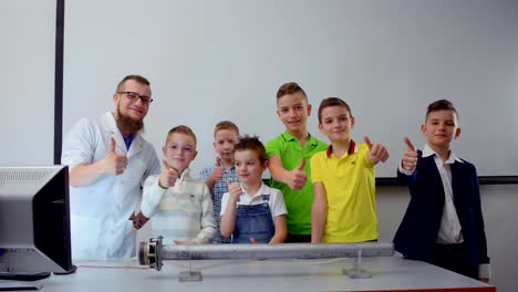
<svg viewBox="0 0 518 292">
<path fill-rule="evenodd" d="M 63 143 L 74 259 L 135 253 L 136 230 L 130 218 L 141 200 L 143 181 L 160 173 L 154 147 L 141 135 L 151 96 L 145 77 L 124 77 L 113 94 L 115 111 L 79 121 Z"/>
</svg>

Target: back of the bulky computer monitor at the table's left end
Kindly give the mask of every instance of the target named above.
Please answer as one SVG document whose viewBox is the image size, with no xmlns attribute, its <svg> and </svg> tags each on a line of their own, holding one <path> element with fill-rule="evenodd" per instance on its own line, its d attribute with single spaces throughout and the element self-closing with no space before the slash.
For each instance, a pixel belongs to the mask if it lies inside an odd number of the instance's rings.
<svg viewBox="0 0 518 292">
<path fill-rule="evenodd" d="M 68 273 L 68 166 L 0 167 L 0 277 Z"/>
</svg>

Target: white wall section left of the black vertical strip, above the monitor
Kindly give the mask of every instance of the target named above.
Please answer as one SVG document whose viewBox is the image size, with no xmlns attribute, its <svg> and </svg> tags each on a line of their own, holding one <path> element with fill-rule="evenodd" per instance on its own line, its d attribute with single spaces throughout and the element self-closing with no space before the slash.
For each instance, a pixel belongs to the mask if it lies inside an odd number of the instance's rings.
<svg viewBox="0 0 518 292">
<path fill-rule="evenodd" d="M 55 0 L 0 1 L 0 165 L 53 164 Z"/>
</svg>

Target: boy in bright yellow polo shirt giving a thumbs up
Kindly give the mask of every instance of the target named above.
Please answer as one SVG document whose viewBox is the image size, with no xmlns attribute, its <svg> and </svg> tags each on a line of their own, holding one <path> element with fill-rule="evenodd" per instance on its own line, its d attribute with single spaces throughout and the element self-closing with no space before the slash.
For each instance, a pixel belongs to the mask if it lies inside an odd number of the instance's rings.
<svg viewBox="0 0 518 292">
<path fill-rule="evenodd" d="M 365 144 L 356 144 L 351 138 L 353 127 L 354 117 L 344 101 L 321 102 L 319 129 L 331 145 L 311 157 L 312 243 L 377 240 L 374 166 L 385 161 L 388 152 L 367 136 Z"/>
</svg>

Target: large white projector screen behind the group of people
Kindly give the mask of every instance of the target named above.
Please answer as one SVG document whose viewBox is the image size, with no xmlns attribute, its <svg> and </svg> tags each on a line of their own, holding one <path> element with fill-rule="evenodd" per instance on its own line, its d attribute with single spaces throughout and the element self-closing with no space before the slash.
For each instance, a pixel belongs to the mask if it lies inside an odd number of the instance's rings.
<svg viewBox="0 0 518 292">
<path fill-rule="evenodd" d="M 457 106 L 454 150 L 479 176 L 518 176 L 518 2 L 512 0 L 68 1 L 63 134 L 114 108 L 116 83 L 149 79 L 146 137 L 162 157 L 166 133 L 198 138 L 195 171 L 215 163 L 214 125 L 235 122 L 266 143 L 284 131 L 276 92 L 296 81 L 313 106 L 346 101 L 353 139 L 387 146 L 376 177 L 395 177 L 408 136 L 422 148 L 426 106 Z"/>
</svg>

